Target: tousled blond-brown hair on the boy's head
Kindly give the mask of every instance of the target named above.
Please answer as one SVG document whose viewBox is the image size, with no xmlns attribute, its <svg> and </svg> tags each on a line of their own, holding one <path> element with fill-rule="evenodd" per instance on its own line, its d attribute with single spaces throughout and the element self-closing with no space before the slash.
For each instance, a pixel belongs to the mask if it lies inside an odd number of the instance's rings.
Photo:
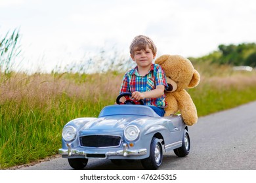
<svg viewBox="0 0 256 183">
<path fill-rule="evenodd" d="M 146 50 L 146 46 L 148 46 L 151 50 L 153 55 L 156 55 L 157 48 L 152 39 L 146 37 L 144 35 L 138 35 L 133 39 L 130 45 L 130 54 L 133 55 L 138 50 Z"/>
</svg>

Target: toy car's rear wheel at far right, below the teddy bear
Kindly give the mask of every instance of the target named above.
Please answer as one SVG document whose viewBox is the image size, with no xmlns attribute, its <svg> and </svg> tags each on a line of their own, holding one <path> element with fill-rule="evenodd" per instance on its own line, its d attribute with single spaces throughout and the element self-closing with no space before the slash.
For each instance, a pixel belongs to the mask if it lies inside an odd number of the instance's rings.
<svg viewBox="0 0 256 183">
<path fill-rule="evenodd" d="M 173 151 L 177 156 L 184 157 L 184 156 L 188 155 L 189 150 L 190 150 L 190 138 L 188 135 L 188 131 L 186 131 L 186 129 L 185 129 L 183 139 L 182 139 L 182 146 Z"/>
</svg>

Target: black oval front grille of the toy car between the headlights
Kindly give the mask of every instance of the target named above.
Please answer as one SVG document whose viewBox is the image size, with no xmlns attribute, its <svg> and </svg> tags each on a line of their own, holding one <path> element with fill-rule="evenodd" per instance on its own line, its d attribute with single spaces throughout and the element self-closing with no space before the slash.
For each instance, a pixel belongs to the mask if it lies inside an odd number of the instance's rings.
<svg viewBox="0 0 256 183">
<path fill-rule="evenodd" d="M 119 146 L 121 137 L 112 135 L 87 135 L 80 137 L 80 145 L 86 147 L 110 147 Z"/>
</svg>

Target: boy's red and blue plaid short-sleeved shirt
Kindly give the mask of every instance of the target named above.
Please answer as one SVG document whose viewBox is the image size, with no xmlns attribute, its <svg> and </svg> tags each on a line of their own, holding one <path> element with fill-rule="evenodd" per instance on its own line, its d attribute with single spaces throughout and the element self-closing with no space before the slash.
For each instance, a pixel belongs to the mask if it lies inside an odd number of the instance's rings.
<svg viewBox="0 0 256 183">
<path fill-rule="evenodd" d="M 121 84 L 120 92 L 146 92 L 156 89 L 156 86 L 163 85 L 165 89 L 168 88 L 166 82 L 166 76 L 158 64 L 152 64 L 151 69 L 145 76 L 140 76 L 138 73 L 138 67 L 129 70 L 123 76 L 123 82 Z M 158 98 L 144 99 L 146 105 L 154 105 L 156 107 L 166 107 L 167 102 L 165 101 L 165 94 Z"/>
</svg>

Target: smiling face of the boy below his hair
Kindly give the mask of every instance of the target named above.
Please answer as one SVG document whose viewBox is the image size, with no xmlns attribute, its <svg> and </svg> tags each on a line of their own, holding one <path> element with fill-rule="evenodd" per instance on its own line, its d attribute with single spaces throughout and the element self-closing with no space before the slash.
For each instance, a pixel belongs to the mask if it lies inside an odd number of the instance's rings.
<svg viewBox="0 0 256 183">
<path fill-rule="evenodd" d="M 147 45 L 145 50 L 137 50 L 131 54 L 131 58 L 137 63 L 138 67 L 149 67 L 153 59 L 156 58 L 156 54 L 154 55 Z"/>
</svg>

